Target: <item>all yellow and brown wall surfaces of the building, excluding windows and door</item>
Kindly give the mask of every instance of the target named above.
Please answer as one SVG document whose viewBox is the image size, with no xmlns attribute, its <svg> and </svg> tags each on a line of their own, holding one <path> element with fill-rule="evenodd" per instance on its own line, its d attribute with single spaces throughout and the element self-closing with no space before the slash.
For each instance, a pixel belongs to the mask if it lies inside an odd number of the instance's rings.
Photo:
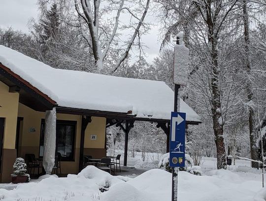
<svg viewBox="0 0 266 201">
<path fill-rule="evenodd" d="M 36 112 L 33 109 L 19 103 L 19 93 L 9 93 L 9 87 L 0 81 L 0 117 L 5 118 L 3 149 L 14 150 L 16 143 L 17 117 L 23 117 L 20 124 L 18 157 L 25 158 L 25 154 L 39 156 L 41 119 L 45 118 L 44 112 Z M 74 161 L 62 161 L 62 173 L 77 173 L 80 153 L 81 116 L 57 114 L 58 120 L 76 121 Z M 106 119 L 92 117 L 92 122 L 86 128 L 84 141 L 84 155 L 92 155 L 94 158 L 106 156 L 105 150 L 105 125 Z M 34 128 L 35 132 L 30 132 Z M 91 140 L 91 135 L 97 135 L 96 140 Z M 14 162 L 15 150 L 12 152 L 10 164 Z M 4 162 L 5 163 L 5 162 Z M 12 166 L 11 164 L 11 166 Z M 6 166 L 3 164 L 3 166 Z M 9 168 L 10 171 L 12 168 Z"/>
</svg>

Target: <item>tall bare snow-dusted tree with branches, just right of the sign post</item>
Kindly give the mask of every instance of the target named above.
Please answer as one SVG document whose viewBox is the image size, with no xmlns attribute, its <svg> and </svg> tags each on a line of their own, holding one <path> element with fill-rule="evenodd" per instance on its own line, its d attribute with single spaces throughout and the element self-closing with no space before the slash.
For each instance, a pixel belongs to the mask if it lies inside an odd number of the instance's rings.
<svg viewBox="0 0 266 201">
<path fill-rule="evenodd" d="M 168 21 L 176 23 L 170 26 L 171 34 L 183 31 L 187 36 L 187 46 L 191 50 L 191 70 L 188 91 L 195 106 L 207 112 L 211 117 L 217 149 L 217 168 L 227 168 L 224 125 L 232 121 L 236 113 L 233 103 L 238 97 L 240 72 L 233 68 L 230 54 L 235 50 L 232 39 L 237 26 L 235 11 L 237 0 L 164 0 Z M 179 9 L 180 4 L 186 4 Z M 169 13 L 171 14 L 170 16 Z M 171 18 L 174 16 L 173 18 Z M 235 24 L 234 24 L 235 23 Z M 180 26 L 182 25 L 182 26 Z M 175 31 L 175 32 L 173 32 Z M 169 35 L 169 33 L 166 32 Z M 226 39 L 228 38 L 228 39 Z M 167 39 L 167 38 L 166 38 Z M 191 88 L 193 87 L 193 88 Z M 194 95 L 193 95 L 194 94 Z M 199 100 L 200 99 L 200 100 Z"/>
</svg>

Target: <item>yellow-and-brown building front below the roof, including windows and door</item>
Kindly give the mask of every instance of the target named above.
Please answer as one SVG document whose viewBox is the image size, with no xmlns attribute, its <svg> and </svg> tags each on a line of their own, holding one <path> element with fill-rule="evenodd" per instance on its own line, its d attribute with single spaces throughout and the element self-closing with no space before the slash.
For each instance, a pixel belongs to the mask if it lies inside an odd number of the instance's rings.
<svg viewBox="0 0 266 201">
<path fill-rule="evenodd" d="M 19 93 L 9 92 L 0 81 L 0 139 L 2 139 L 1 182 L 10 182 L 12 166 L 17 157 L 25 154 L 43 155 L 45 112 L 38 112 L 19 103 Z M 106 156 L 106 118 L 92 117 L 84 138 L 84 155 Z M 76 174 L 79 170 L 81 115 L 57 113 L 57 152 L 62 155 L 62 173 Z"/>
</svg>

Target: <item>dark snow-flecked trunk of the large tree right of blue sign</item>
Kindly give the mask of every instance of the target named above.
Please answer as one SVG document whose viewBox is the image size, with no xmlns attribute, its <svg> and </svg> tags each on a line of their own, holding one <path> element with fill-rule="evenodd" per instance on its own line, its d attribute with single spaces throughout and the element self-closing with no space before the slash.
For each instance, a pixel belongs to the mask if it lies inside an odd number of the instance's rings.
<svg viewBox="0 0 266 201">
<path fill-rule="evenodd" d="M 209 60 L 210 64 L 207 64 L 208 79 L 210 79 L 209 88 L 210 96 L 209 101 L 211 103 L 211 117 L 213 121 L 213 131 L 215 135 L 215 144 L 217 149 L 217 168 L 221 169 L 227 168 L 226 160 L 226 147 L 224 140 L 224 130 L 223 126 L 225 124 L 226 110 L 223 114 L 221 107 L 221 75 L 220 75 L 220 65 L 218 62 L 218 39 L 221 29 L 223 29 L 223 23 L 226 20 L 229 12 L 233 9 L 236 1 L 228 7 L 227 11 L 223 11 L 223 1 L 217 0 L 204 0 L 204 1 L 193 1 L 202 16 L 202 19 L 207 25 L 208 32 L 208 51 L 210 54 Z M 208 61 L 208 59 L 206 59 Z M 209 67 L 210 66 L 210 67 Z"/>
</svg>

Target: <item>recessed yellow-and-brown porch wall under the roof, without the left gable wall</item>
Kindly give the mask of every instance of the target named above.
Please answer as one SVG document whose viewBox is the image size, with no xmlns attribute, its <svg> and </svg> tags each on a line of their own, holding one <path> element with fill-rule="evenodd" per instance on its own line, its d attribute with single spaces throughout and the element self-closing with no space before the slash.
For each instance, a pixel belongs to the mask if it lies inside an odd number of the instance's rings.
<svg viewBox="0 0 266 201">
<path fill-rule="evenodd" d="M 19 103 L 18 117 L 23 117 L 22 134 L 20 134 L 19 157 L 24 158 L 25 154 L 35 154 L 39 156 L 39 141 L 41 119 L 45 118 L 44 112 L 36 112 L 31 108 Z M 57 114 L 57 120 L 76 121 L 75 136 L 75 153 L 74 161 L 61 161 L 62 173 L 78 173 L 79 153 L 80 153 L 80 136 L 81 136 L 81 118 L 79 115 Z M 89 152 L 93 152 L 94 156 L 100 156 L 105 151 L 105 118 L 92 117 L 92 122 L 86 128 L 84 150 L 89 148 Z M 30 128 L 35 128 L 35 132 L 30 132 Z M 97 140 L 91 140 L 90 135 L 97 135 Z M 91 149 L 92 148 L 92 149 Z M 88 151 L 88 150 L 87 150 Z"/>
</svg>

